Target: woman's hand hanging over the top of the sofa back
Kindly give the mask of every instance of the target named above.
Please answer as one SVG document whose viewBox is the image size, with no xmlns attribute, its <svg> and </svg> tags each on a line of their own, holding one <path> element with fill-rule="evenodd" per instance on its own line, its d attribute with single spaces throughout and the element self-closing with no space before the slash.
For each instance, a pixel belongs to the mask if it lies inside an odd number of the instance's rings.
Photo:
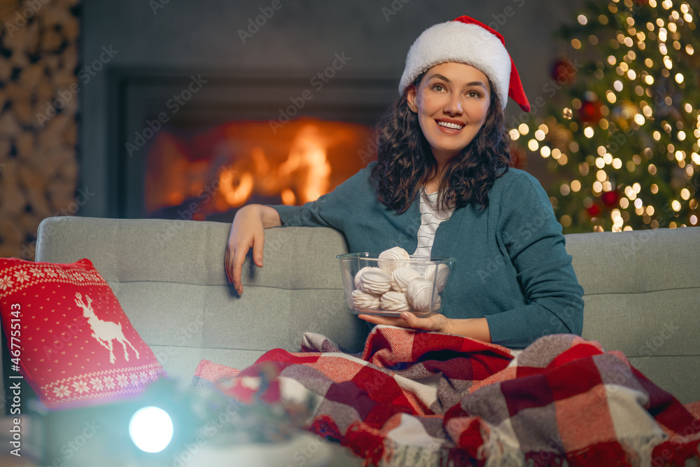
<svg viewBox="0 0 700 467">
<path fill-rule="evenodd" d="M 233 218 L 228 236 L 224 268 L 228 280 L 233 283 L 238 295 L 243 293 L 241 270 L 248 250 L 253 248 L 253 262 L 262 267 L 262 246 L 265 244 L 265 229 L 282 225 L 277 211 L 261 204 L 241 207 Z"/>
</svg>

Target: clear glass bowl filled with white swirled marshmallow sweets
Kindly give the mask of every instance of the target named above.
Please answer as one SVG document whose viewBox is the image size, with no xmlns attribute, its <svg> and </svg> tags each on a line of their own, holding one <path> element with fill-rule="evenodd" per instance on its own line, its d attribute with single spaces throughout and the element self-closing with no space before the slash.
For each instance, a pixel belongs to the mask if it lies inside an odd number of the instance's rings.
<svg viewBox="0 0 700 467">
<path fill-rule="evenodd" d="M 345 300 L 353 314 L 426 317 L 442 313 L 454 258 L 379 259 L 374 253 L 339 255 Z"/>
</svg>

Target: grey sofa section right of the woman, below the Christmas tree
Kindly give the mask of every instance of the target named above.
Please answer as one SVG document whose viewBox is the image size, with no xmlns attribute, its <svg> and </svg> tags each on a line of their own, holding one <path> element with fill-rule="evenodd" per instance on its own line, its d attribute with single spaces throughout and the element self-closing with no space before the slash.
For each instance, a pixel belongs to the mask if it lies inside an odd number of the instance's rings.
<svg viewBox="0 0 700 467">
<path fill-rule="evenodd" d="M 566 236 L 583 337 L 621 350 L 684 403 L 700 400 L 700 228 Z"/>
</svg>

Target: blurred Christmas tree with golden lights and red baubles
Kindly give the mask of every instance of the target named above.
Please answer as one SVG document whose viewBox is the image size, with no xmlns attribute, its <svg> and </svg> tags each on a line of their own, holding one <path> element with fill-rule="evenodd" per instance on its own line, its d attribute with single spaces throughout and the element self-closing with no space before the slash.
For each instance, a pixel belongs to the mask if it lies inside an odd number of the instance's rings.
<svg viewBox="0 0 700 467">
<path fill-rule="evenodd" d="M 557 177 L 565 233 L 698 225 L 699 3 L 591 1 L 561 29 L 546 116 L 510 134 Z"/>
</svg>

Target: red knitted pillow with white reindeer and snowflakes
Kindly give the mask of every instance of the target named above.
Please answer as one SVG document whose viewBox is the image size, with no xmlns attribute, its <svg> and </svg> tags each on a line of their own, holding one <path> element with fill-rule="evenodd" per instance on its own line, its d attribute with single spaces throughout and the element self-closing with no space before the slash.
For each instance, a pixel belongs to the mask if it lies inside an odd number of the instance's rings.
<svg viewBox="0 0 700 467">
<path fill-rule="evenodd" d="M 19 372 L 47 407 L 136 396 L 165 376 L 90 260 L 0 258 L 0 314 L 10 375 Z"/>
</svg>

